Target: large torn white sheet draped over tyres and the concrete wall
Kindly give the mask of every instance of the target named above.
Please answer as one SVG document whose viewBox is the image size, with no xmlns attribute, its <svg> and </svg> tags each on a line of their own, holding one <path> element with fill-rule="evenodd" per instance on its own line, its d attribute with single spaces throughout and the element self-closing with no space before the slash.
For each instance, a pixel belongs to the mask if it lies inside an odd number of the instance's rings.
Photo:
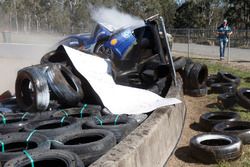
<svg viewBox="0 0 250 167">
<path fill-rule="evenodd" d="M 109 74 L 107 61 L 67 46 L 64 48 L 75 68 L 113 114 L 147 113 L 162 106 L 181 103 L 176 98 L 162 98 L 148 90 L 117 85 Z"/>
</svg>

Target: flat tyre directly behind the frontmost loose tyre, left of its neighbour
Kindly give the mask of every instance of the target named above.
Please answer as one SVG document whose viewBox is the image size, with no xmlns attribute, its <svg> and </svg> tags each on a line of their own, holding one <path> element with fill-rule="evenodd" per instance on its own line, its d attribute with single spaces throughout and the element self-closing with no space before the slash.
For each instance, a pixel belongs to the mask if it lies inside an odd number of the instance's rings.
<svg viewBox="0 0 250 167">
<path fill-rule="evenodd" d="M 200 116 L 199 125 L 205 131 L 211 131 L 218 123 L 237 120 L 240 120 L 240 115 L 236 112 L 208 112 Z"/>
</svg>

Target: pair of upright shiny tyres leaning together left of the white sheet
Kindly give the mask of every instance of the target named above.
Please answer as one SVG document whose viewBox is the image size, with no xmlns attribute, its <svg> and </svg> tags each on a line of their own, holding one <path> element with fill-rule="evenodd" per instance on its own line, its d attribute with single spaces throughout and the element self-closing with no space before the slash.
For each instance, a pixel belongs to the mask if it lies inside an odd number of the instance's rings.
<svg viewBox="0 0 250 167">
<path fill-rule="evenodd" d="M 56 106 L 54 101 L 63 107 L 75 106 L 84 97 L 81 81 L 62 64 L 23 68 L 15 85 L 17 103 L 27 112 L 44 112 Z"/>
</svg>

